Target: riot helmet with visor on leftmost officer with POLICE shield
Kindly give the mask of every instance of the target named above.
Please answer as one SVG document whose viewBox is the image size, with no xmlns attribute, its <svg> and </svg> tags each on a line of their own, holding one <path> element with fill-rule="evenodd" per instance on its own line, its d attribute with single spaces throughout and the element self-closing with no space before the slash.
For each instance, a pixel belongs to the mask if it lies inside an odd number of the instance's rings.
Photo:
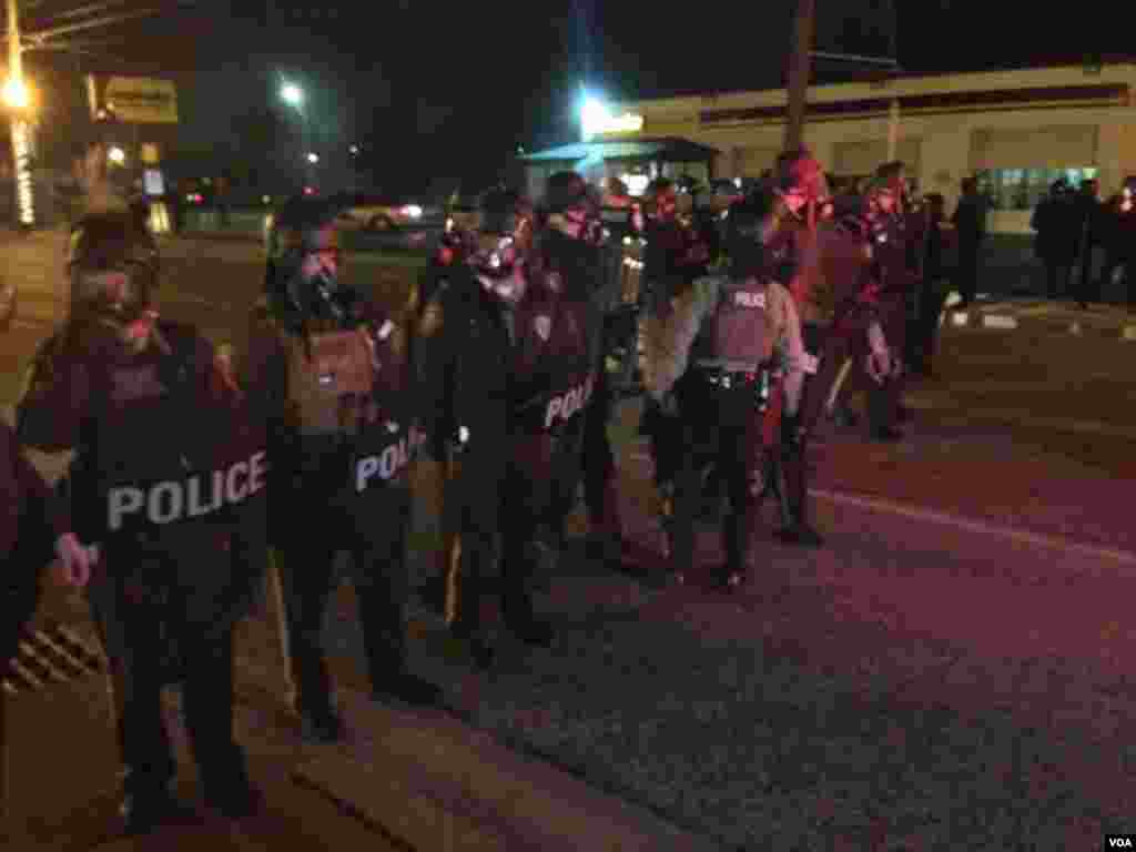
<svg viewBox="0 0 1136 852">
<path fill-rule="evenodd" d="M 83 217 L 67 250 L 72 303 L 130 324 L 141 319 L 158 285 L 158 248 L 128 210 Z"/>
</svg>

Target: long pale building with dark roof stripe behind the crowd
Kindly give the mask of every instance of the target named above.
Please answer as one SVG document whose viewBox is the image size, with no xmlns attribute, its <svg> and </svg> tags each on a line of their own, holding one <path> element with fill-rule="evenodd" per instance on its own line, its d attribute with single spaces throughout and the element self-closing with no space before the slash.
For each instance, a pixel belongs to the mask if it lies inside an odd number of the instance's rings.
<svg viewBox="0 0 1136 852">
<path fill-rule="evenodd" d="M 959 183 L 977 176 L 994 208 L 995 233 L 1029 232 L 1037 200 L 1059 177 L 1096 177 L 1102 194 L 1136 175 L 1136 65 L 1056 67 L 897 77 L 815 86 L 805 144 L 834 175 L 859 177 L 894 157 L 922 192 L 947 209 Z M 678 137 L 718 151 L 712 177 L 757 177 L 782 150 L 785 90 L 693 95 L 613 105 L 641 116 L 635 133 L 607 140 Z"/>
</svg>

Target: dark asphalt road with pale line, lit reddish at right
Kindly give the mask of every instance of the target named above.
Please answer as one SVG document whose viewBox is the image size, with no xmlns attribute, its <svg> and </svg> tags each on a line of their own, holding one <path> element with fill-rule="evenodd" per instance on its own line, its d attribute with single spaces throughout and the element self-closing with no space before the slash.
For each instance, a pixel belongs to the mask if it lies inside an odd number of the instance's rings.
<svg viewBox="0 0 1136 852">
<path fill-rule="evenodd" d="M 5 248 L 3 274 L 20 276 L 25 294 L 0 342 L 6 402 L 52 320 L 53 245 L 37 236 Z M 256 247 L 175 241 L 164 258 L 162 309 L 240 345 L 261 283 Z M 412 267 L 378 260 L 349 257 L 350 275 L 395 298 Z M 541 596 L 561 628 L 552 651 L 518 650 L 491 682 L 431 641 L 416 645 L 415 666 L 448 684 L 475 725 L 732 847 L 759 847 L 774 825 L 802 842 L 809 826 L 827 826 L 825 836 L 849 843 L 835 849 L 868 849 L 869 836 L 909 849 L 1012 847 L 997 844 L 1014 832 L 1033 832 L 1036 849 L 1096 847 L 1102 830 L 1131 830 L 1122 821 L 1136 812 L 1133 345 L 947 328 L 938 378 L 912 387 L 908 441 L 830 433 L 818 445 L 825 550 L 784 549 L 762 527 L 751 582 L 733 599 L 698 586 L 648 591 L 566 557 Z M 651 562 L 659 533 L 636 404 L 623 406 L 612 435 L 627 533 Z M 433 542 L 420 494 L 419 578 Z M 700 559 L 719 558 L 708 528 Z M 328 642 L 340 676 L 359 680 L 348 592 L 341 603 Z M 755 675 L 685 679 L 754 659 Z M 833 678 L 840 694 L 860 695 L 842 721 L 818 716 Z M 774 682 L 784 695 L 761 686 Z M 753 752 L 754 715 L 782 743 L 777 760 Z M 845 730 L 852 719 L 860 734 Z M 657 732 L 649 745 L 644 730 Z M 863 761 L 882 767 L 895 754 L 908 771 L 885 795 Z M 775 765 L 811 769 L 755 797 L 754 767 L 776 775 Z M 951 826 L 967 820 L 977 845 L 951 843 L 961 836 Z"/>
</svg>

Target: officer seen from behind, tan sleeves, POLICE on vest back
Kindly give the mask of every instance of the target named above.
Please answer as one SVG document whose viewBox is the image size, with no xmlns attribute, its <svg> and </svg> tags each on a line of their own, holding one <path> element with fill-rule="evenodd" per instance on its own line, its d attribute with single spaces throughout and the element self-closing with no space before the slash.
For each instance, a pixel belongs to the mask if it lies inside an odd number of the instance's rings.
<svg viewBox="0 0 1136 852">
<path fill-rule="evenodd" d="M 769 275 L 768 217 L 768 204 L 760 199 L 734 206 L 729 274 L 699 278 L 678 295 L 665 340 L 648 360 L 648 390 L 661 406 L 677 409 L 685 437 L 671 535 L 679 578 L 694 560 L 702 469 L 716 462 L 726 482 L 726 565 L 716 577 L 733 586 L 745 574 L 757 498 L 765 491 L 766 477 L 787 463 L 776 458 L 767 463 L 763 419 L 776 410 L 769 406 L 770 393 L 780 393 L 785 419 L 795 421 L 804 351 L 793 296 Z"/>
</svg>

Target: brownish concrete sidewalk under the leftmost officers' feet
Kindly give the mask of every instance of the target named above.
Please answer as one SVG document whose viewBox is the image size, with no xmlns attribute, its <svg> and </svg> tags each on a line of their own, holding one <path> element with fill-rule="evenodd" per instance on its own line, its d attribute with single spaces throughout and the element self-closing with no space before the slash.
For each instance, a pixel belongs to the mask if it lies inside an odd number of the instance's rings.
<svg viewBox="0 0 1136 852">
<path fill-rule="evenodd" d="M 49 590 L 40 618 L 73 625 L 97 644 L 86 607 Z M 244 621 L 237 640 L 235 733 L 249 754 L 266 811 L 232 826 L 199 810 L 200 824 L 145 838 L 114 830 L 117 755 L 102 675 L 22 696 L 8 718 L 11 785 L 0 846 L 27 852 L 162 849 L 324 850 L 375 852 L 511 852 L 619 850 L 711 852 L 718 846 L 684 834 L 650 812 L 598 793 L 567 772 L 526 759 L 446 712 L 376 704 L 359 690 L 358 671 L 331 665 L 351 732 L 340 746 L 299 737 L 284 701 L 276 637 L 265 613 Z M 415 624 L 412 633 L 428 626 Z M 167 691 L 167 726 L 178 752 L 178 794 L 200 801 L 179 712 Z M 65 777 L 58 768 L 73 766 Z M 7 842 L 7 843 L 5 843 Z"/>
</svg>

